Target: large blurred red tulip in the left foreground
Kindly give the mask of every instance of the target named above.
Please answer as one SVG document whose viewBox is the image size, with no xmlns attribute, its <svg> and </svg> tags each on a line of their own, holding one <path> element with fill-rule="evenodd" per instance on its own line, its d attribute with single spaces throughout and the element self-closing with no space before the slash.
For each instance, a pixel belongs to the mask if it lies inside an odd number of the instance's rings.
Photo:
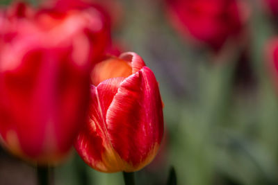
<svg viewBox="0 0 278 185">
<path fill-rule="evenodd" d="M 0 139 L 19 157 L 54 164 L 85 123 L 90 69 L 108 31 L 93 7 L 31 9 L 20 3 L 0 19 Z"/>
</svg>

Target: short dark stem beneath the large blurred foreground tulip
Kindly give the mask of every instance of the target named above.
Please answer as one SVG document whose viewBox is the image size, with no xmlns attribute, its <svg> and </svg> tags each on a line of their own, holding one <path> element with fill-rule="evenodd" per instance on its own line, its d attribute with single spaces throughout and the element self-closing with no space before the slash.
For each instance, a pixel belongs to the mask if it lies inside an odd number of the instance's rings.
<svg viewBox="0 0 278 185">
<path fill-rule="evenodd" d="M 53 169 L 48 166 L 37 166 L 38 185 L 53 185 Z"/>
</svg>

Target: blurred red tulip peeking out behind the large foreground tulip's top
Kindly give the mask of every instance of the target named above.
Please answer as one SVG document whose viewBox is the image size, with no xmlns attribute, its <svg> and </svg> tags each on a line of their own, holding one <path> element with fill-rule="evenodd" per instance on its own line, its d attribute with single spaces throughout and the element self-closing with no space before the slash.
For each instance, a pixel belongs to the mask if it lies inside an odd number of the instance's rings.
<svg viewBox="0 0 278 185">
<path fill-rule="evenodd" d="M 40 13 L 42 15 L 50 15 L 51 19 L 55 21 L 73 14 L 80 15 L 80 17 L 86 19 L 88 25 L 84 31 L 94 48 L 92 60 L 100 59 L 97 58 L 100 56 L 99 53 L 105 53 L 111 46 L 111 21 L 107 13 L 99 6 L 82 0 L 57 0 L 54 4 L 50 4 L 49 9 L 41 10 Z M 42 16 L 42 26 L 44 26 L 44 21 L 48 21 L 48 19 Z M 55 21 L 54 24 L 56 24 Z M 71 24 L 72 27 L 74 26 L 74 22 L 68 22 L 68 24 Z M 45 25 L 51 26 L 49 22 L 46 22 Z"/>
</svg>

